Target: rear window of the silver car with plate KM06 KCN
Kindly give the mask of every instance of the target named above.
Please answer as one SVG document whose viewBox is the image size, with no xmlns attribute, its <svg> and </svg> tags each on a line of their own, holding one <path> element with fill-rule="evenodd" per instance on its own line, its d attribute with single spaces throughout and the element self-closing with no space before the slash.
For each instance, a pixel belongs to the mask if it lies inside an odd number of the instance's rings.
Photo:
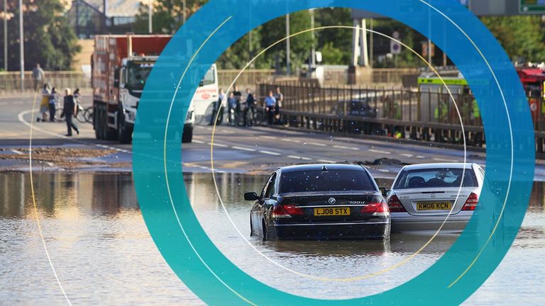
<svg viewBox="0 0 545 306">
<path fill-rule="evenodd" d="M 440 188 L 440 187 L 477 187 L 477 178 L 472 169 L 466 169 L 462 177 L 463 169 L 415 169 L 403 171 L 397 183 L 396 189 L 408 188 Z"/>
</svg>

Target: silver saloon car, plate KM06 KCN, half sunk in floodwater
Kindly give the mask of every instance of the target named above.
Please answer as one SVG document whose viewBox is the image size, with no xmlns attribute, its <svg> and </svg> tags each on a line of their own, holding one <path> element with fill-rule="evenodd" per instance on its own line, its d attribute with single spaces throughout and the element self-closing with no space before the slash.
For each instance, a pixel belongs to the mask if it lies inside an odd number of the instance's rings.
<svg viewBox="0 0 545 306">
<path fill-rule="evenodd" d="M 437 230 L 441 225 L 464 229 L 477 207 L 484 176 L 483 168 L 473 163 L 404 166 L 387 197 L 392 231 Z"/>
</svg>

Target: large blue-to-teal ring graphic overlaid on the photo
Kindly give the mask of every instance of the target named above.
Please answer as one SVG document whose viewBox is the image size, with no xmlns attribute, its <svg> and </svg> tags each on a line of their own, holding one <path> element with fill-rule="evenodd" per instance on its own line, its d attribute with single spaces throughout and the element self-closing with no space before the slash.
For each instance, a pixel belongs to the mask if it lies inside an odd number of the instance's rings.
<svg viewBox="0 0 545 306">
<path fill-rule="evenodd" d="M 194 215 L 180 150 L 193 93 L 224 50 L 273 18 L 327 7 L 373 11 L 434 41 L 470 84 L 487 140 L 479 208 L 451 249 L 407 283 L 348 300 L 285 293 L 231 263 Z M 516 237 L 534 157 L 529 106 L 510 59 L 478 18 L 453 0 L 211 0 L 163 50 L 145 85 L 133 135 L 133 176 L 148 230 L 172 271 L 209 305 L 458 305 L 490 276 Z"/>
</svg>

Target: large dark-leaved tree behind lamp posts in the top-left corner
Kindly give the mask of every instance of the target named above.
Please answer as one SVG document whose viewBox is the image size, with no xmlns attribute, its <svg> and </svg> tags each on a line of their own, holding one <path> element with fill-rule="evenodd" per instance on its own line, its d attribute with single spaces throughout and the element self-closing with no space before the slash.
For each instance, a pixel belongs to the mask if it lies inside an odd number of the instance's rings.
<svg viewBox="0 0 545 306">
<path fill-rule="evenodd" d="M 13 13 L 13 18 L 8 21 L 8 67 L 9 70 L 18 70 L 21 65 L 17 0 L 8 0 L 8 11 Z M 61 1 L 23 0 L 23 19 L 25 69 L 31 70 L 37 63 L 46 70 L 70 69 L 80 47 Z M 4 45 L 4 35 L 0 35 L 0 45 Z M 3 67 L 4 57 L 0 62 Z"/>
</svg>

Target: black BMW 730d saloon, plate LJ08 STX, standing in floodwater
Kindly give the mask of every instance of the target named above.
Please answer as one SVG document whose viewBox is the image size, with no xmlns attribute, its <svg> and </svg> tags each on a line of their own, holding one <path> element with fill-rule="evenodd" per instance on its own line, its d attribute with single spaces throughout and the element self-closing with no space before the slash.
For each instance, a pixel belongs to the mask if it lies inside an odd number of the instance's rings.
<svg viewBox="0 0 545 306">
<path fill-rule="evenodd" d="M 282 167 L 244 199 L 255 200 L 251 234 L 264 240 L 390 238 L 390 212 L 363 166 Z"/>
</svg>

